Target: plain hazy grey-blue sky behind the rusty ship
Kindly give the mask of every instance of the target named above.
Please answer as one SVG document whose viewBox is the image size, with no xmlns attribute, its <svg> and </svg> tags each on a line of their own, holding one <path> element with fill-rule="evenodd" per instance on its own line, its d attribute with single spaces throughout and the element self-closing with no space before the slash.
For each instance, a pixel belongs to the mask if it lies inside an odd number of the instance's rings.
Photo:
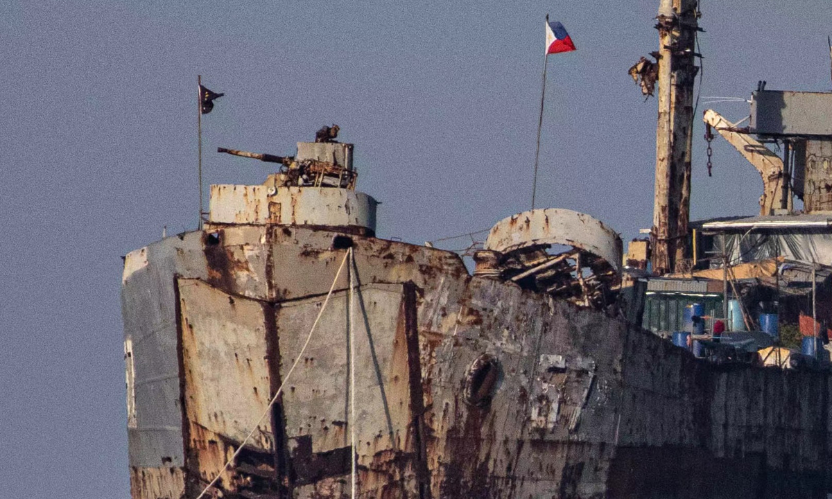
<svg viewBox="0 0 832 499">
<path fill-rule="evenodd" d="M 203 121 L 206 185 L 270 172 L 217 146 L 292 154 L 337 123 L 383 201 L 379 235 L 421 244 L 529 207 L 549 12 L 578 50 L 549 57 L 537 205 L 629 240 L 651 225 L 656 100 L 626 70 L 656 50 L 657 7 L 3 2 L 0 497 L 129 494 L 120 257 L 196 226 L 197 74 L 225 92 Z M 754 215 L 759 175 L 719 138 L 706 174 L 704 97 L 830 90 L 832 3 L 701 9 L 692 215 Z"/>
</svg>

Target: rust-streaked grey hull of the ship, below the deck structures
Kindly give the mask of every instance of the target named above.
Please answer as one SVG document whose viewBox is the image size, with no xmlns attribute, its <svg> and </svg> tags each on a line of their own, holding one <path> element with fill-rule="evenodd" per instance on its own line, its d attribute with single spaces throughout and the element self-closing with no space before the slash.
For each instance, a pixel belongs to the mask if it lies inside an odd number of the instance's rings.
<svg viewBox="0 0 832 499">
<path fill-rule="evenodd" d="M 357 298 L 342 274 L 286 378 L 347 247 Z M 284 381 L 209 497 L 348 497 L 353 429 L 359 497 L 832 490 L 826 373 L 713 367 L 442 250 L 227 225 L 128 254 L 122 289 L 134 499 L 199 495 Z"/>
</svg>

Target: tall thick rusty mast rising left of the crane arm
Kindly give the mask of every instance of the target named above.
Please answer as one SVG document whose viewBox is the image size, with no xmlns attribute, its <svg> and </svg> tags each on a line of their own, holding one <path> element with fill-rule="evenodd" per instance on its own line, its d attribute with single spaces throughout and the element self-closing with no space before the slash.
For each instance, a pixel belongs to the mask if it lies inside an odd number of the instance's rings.
<svg viewBox="0 0 832 499">
<path fill-rule="evenodd" d="M 696 0 L 662 0 L 659 30 L 659 114 L 656 126 L 656 195 L 651 229 L 653 272 L 679 269 L 686 257 L 691 205 L 694 52 L 699 31 Z"/>
</svg>

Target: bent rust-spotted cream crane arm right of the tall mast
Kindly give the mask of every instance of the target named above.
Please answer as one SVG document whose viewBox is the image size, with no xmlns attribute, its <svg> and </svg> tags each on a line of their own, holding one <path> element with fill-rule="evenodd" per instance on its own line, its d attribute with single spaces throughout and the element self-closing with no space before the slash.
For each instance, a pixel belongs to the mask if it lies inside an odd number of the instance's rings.
<svg viewBox="0 0 832 499">
<path fill-rule="evenodd" d="M 718 112 L 708 109 L 702 118 L 707 125 L 719 134 L 745 159 L 754 166 L 763 179 L 763 195 L 760 196 L 760 215 L 771 215 L 775 208 L 780 208 L 783 202 L 783 160 L 759 141 L 755 141 L 748 133 L 737 130 L 735 123 L 731 123 Z"/>
</svg>

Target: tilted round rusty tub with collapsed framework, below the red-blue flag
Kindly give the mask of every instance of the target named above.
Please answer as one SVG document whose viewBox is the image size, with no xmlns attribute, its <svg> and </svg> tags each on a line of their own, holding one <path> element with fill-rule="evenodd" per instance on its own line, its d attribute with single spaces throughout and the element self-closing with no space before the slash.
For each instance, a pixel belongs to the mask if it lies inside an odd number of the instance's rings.
<svg viewBox="0 0 832 499">
<path fill-rule="evenodd" d="M 494 225 L 474 274 L 511 280 L 582 306 L 602 307 L 621 282 L 622 241 L 589 215 L 529 210 Z"/>
</svg>

